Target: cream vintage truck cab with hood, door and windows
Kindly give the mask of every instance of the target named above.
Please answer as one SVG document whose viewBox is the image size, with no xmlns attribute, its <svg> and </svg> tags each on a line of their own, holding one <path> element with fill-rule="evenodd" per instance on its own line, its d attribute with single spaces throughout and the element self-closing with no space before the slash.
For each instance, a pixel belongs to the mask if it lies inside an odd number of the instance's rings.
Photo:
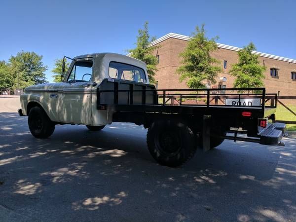
<svg viewBox="0 0 296 222">
<path fill-rule="evenodd" d="M 112 113 L 98 111 L 96 104 L 97 86 L 104 79 L 149 84 L 144 62 L 115 53 L 77 56 L 63 79 L 27 87 L 20 97 L 22 114 L 39 106 L 52 122 L 105 126 L 111 124 Z"/>
</svg>

